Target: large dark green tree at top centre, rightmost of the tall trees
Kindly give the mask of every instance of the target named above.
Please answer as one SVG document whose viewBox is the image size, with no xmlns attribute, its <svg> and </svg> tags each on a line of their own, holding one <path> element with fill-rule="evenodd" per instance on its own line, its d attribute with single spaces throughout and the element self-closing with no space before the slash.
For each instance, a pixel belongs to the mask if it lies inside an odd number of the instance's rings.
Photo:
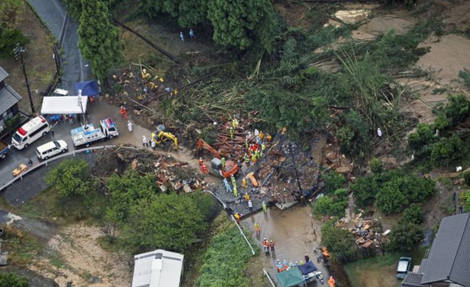
<svg viewBox="0 0 470 287">
<path fill-rule="evenodd" d="M 219 45 L 245 50 L 253 44 L 253 39 L 260 39 L 265 50 L 272 50 L 271 0 L 210 0 L 207 18 L 214 29 L 212 38 Z"/>
</svg>

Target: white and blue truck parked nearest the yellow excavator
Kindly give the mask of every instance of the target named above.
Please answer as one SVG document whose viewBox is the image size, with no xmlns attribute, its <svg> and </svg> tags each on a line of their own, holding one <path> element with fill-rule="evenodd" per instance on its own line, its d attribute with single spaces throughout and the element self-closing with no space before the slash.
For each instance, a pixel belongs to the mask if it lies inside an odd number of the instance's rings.
<svg viewBox="0 0 470 287">
<path fill-rule="evenodd" d="M 104 138 L 112 139 L 119 135 L 116 123 L 110 118 L 100 120 L 100 127 L 96 129 L 92 124 L 88 124 L 81 126 L 80 128 L 73 129 L 70 132 L 72 134 L 73 144 L 76 147 L 82 145 L 89 147 L 94 141 Z"/>
</svg>

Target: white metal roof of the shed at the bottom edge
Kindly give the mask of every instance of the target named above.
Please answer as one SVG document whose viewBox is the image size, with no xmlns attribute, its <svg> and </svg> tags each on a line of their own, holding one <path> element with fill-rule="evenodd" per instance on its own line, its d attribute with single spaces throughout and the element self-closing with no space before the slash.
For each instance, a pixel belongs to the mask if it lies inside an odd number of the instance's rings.
<svg viewBox="0 0 470 287">
<path fill-rule="evenodd" d="M 134 256 L 132 287 L 179 287 L 184 255 L 157 249 Z"/>
</svg>

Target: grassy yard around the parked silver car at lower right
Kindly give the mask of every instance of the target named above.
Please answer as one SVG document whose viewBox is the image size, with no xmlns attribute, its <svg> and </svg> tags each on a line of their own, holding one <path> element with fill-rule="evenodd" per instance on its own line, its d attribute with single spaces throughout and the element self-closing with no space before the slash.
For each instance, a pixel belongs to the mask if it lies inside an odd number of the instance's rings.
<svg viewBox="0 0 470 287">
<path fill-rule="evenodd" d="M 399 287 L 401 280 L 396 278 L 398 259 L 411 257 L 413 264 L 419 265 L 425 252 L 426 248 L 419 248 L 408 253 L 386 253 L 384 256 L 361 259 L 347 264 L 346 271 L 352 286 Z"/>
</svg>

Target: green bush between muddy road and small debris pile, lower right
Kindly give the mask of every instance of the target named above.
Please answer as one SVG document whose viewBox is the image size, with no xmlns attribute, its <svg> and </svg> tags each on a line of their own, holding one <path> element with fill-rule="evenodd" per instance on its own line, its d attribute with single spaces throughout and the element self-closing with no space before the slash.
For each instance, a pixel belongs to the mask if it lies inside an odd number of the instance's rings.
<svg viewBox="0 0 470 287">
<path fill-rule="evenodd" d="M 356 253 L 356 242 L 349 230 L 336 228 L 335 222 L 327 221 L 322 227 L 322 244 L 334 254 L 351 259 Z"/>
</svg>

